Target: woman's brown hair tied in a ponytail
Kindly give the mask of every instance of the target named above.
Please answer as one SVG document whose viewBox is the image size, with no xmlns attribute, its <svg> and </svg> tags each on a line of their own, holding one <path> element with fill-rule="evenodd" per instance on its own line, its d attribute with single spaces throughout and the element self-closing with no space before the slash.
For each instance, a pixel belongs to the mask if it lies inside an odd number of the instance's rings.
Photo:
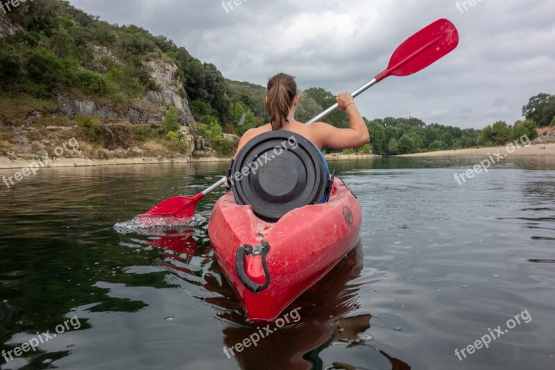
<svg viewBox="0 0 555 370">
<path fill-rule="evenodd" d="M 272 130 L 280 130 L 283 127 L 296 95 L 297 83 L 293 76 L 280 73 L 268 80 L 266 110 L 270 115 Z"/>
</svg>

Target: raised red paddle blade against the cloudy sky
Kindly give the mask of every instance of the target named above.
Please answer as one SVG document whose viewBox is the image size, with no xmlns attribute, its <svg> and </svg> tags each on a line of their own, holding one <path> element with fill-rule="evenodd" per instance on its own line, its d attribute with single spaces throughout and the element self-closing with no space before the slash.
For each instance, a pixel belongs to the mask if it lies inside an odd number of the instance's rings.
<svg viewBox="0 0 555 370">
<path fill-rule="evenodd" d="M 458 44 L 459 32 L 454 24 L 447 19 L 438 19 L 400 44 L 391 56 L 387 69 L 378 74 L 376 80 L 415 74 L 446 56 Z"/>
</svg>

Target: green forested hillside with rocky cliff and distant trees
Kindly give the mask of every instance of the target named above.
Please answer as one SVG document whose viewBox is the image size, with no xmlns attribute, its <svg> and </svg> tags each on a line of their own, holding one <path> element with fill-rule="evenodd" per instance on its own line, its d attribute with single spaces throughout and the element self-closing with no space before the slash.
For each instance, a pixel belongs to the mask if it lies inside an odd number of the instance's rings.
<svg viewBox="0 0 555 370">
<path fill-rule="evenodd" d="M 236 142 L 225 134 L 267 122 L 265 92 L 224 78 L 167 37 L 108 24 L 66 1 L 27 1 L 0 15 L 1 155 L 47 150 L 71 135 L 89 144 L 83 152 L 92 158 L 113 155 L 106 148 L 126 155 L 212 148 L 230 155 Z M 334 103 L 320 87 L 300 94 L 299 121 Z M 416 118 L 367 120 L 371 142 L 359 150 L 395 155 L 532 137 L 536 124 L 554 124 L 554 96 L 534 96 L 523 115 L 527 120 L 514 126 L 497 122 L 481 132 Z M 343 112 L 326 121 L 348 127 Z"/>
</svg>

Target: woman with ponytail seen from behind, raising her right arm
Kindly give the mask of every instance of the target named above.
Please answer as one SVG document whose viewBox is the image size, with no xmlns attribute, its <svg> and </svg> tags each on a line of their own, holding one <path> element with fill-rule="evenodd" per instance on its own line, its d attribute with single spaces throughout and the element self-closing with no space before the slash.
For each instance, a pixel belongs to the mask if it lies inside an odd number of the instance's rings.
<svg viewBox="0 0 555 370">
<path fill-rule="evenodd" d="M 295 110 L 299 103 L 297 83 L 288 74 L 277 74 L 268 80 L 268 94 L 266 95 L 266 109 L 270 115 L 270 123 L 261 127 L 251 128 L 244 133 L 237 153 L 253 137 L 273 130 L 291 131 L 306 137 L 318 149 L 327 146 L 331 149 L 357 148 L 367 144 L 370 140 L 368 127 L 364 123 L 355 101 L 349 92 L 336 96 L 339 110 L 346 110 L 349 116 L 350 128 L 336 128 L 330 124 L 316 122 L 311 125 L 302 124 L 295 117 Z"/>
</svg>

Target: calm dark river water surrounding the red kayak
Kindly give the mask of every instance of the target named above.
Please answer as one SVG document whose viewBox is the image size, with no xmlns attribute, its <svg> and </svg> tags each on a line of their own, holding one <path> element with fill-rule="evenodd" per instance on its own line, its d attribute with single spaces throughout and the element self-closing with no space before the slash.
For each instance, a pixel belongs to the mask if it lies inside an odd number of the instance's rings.
<svg viewBox="0 0 555 370">
<path fill-rule="evenodd" d="M 554 369 L 555 158 L 459 185 L 479 160 L 330 162 L 364 210 L 359 244 L 296 322 L 230 358 L 259 330 L 213 259 L 224 190 L 176 234 L 114 229 L 225 164 L 41 169 L 0 190 L 0 368 Z"/>
</svg>

